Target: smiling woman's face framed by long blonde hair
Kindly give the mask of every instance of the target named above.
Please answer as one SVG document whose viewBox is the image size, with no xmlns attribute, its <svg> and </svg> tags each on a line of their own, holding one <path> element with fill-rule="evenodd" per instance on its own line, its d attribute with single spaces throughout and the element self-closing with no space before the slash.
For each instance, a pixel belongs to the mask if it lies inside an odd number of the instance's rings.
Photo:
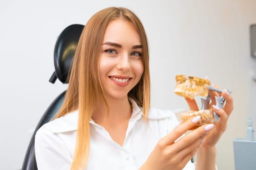
<svg viewBox="0 0 256 170">
<path fill-rule="evenodd" d="M 106 97 L 127 97 L 143 70 L 142 46 L 136 28 L 124 19 L 111 21 L 99 57 L 99 77 Z"/>
</svg>

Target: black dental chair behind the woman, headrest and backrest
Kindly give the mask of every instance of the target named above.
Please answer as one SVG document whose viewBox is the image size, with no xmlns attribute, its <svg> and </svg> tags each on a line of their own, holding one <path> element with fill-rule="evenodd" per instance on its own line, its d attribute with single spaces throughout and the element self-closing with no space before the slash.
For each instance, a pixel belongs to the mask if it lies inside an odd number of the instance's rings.
<svg viewBox="0 0 256 170">
<path fill-rule="evenodd" d="M 73 57 L 83 27 L 84 26 L 80 24 L 73 24 L 65 28 L 59 35 L 54 49 L 55 71 L 49 80 L 51 83 L 54 84 L 57 78 L 63 84 L 68 83 L 68 72 L 72 66 Z M 43 124 L 54 118 L 64 100 L 65 92 L 66 91 L 63 91 L 61 94 L 59 94 L 59 96 L 50 104 L 42 118 L 39 120 L 39 123 L 28 145 L 22 164 L 22 170 L 38 170 L 34 150 L 36 132 Z"/>
</svg>

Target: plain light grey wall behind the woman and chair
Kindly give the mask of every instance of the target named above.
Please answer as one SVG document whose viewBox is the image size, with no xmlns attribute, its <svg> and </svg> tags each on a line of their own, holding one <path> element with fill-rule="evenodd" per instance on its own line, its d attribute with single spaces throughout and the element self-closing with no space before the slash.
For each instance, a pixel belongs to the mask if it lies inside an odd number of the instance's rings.
<svg viewBox="0 0 256 170">
<path fill-rule="evenodd" d="M 109 6 L 132 9 L 150 44 L 152 106 L 188 109 L 173 93 L 175 76 L 189 74 L 234 91 L 235 109 L 217 144 L 219 170 L 234 170 L 233 139 L 256 127 L 256 59 L 249 26 L 255 0 L 6 0 L 0 2 L 0 169 L 21 168 L 31 131 L 66 85 L 48 82 L 54 45 L 68 25 L 85 24 Z"/>
</svg>

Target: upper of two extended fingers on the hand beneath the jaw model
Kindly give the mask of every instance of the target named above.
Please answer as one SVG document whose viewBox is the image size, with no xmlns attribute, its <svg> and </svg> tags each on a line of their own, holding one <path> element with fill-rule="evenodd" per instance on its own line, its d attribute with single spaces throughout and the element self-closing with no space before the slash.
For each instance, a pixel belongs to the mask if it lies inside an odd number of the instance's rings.
<svg viewBox="0 0 256 170">
<path fill-rule="evenodd" d="M 182 136 L 185 132 L 187 132 L 189 129 L 194 127 L 200 119 L 201 119 L 201 116 L 197 116 L 195 118 L 191 118 L 186 122 L 178 125 L 171 133 L 161 138 L 158 144 L 163 147 L 173 144 L 180 136 Z"/>
</svg>

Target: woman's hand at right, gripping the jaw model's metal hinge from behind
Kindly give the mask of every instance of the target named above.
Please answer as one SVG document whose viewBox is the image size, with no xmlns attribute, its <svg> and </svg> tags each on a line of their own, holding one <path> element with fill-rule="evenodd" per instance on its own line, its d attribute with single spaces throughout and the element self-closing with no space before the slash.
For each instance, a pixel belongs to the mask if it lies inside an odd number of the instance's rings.
<svg viewBox="0 0 256 170">
<path fill-rule="evenodd" d="M 219 140 L 220 136 L 227 129 L 227 123 L 231 112 L 233 111 L 233 97 L 227 91 L 223 90 L 221 94 L 218 94 L 216 91 L 209 91 L 211 95 L 211 104 L 210 107 L 214 109 L 214 111 L 219 116 L 218 121 L 215 123 L 215 127 L 211 130 L 210 134 L 208 134 L 205 138 L 205 141 L 202 144 L 202 147 L 214 147 Z M 215 96 L 219 97 L 222 95 L 226 100 L 226 104 L 223 109 L 218 108 L 216 106 Z M 194 99 L 185 98 L 190 110 L 198 110 L 197 103 Z"/>
</svg>

